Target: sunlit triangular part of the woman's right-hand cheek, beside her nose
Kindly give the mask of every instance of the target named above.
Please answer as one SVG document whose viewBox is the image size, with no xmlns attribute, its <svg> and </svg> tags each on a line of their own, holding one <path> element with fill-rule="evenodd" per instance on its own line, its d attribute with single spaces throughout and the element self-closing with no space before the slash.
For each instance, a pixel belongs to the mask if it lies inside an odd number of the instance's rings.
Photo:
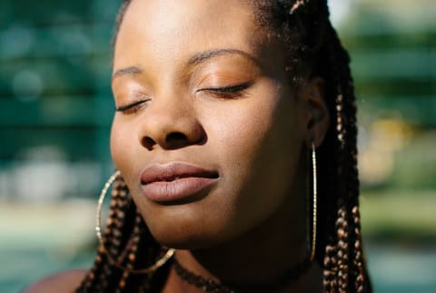
<svg viewBox="0 0 436 293">
<path fill-rule="evenodd" d="M 229 101 L 213 108 L 213 112 L 203 112 L 209 140 L 206 147 L 213 152 L 223 179 L 232 183 L 233 190 L 239 190 L 249 177 L 272 126 L 273 104 L 254 103 L 253 100 Z"/>
</svg>

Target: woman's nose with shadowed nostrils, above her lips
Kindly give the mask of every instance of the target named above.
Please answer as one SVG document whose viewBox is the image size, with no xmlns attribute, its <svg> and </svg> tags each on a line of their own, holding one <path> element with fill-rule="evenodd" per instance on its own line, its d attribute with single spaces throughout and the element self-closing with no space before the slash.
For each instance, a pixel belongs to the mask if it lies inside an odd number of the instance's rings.
<svg viewBox="0 0 436 293">
<path fill-rule="evenodd" d="M 206 141 L 203 126 L 192 106 L 181 100 L 155 100 L 147 107 L 141 117 L 138 139 L 148 150 L 177 149 L 202 145 Z"/>
</svg>

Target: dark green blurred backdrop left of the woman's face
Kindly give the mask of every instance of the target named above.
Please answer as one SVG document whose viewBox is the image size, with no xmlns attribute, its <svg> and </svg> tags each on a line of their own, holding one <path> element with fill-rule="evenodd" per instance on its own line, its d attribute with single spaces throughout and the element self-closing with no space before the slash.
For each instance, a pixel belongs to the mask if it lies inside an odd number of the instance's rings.
<svg viewBox="0 0 436 293">
<path fill-rule="evenodd" d="M 109 130 L 111 37 L 118 1 L 0 4 L 0 197 L 33 197 L 19 182 L 57 197 L 89 197 L 113 169 Z M 45 166 L 46 165 L 46 166 Z M 45 166 L 45 167 L 44 167 Z M 88 177 L 88 188 L 60 186 Z M 18 182 L 18 183 L 17 183 Z M 87 181 L 85 181 L 87 182 Z M 79 187 L 82 186 L 82 187 Z"/>
</svg>

